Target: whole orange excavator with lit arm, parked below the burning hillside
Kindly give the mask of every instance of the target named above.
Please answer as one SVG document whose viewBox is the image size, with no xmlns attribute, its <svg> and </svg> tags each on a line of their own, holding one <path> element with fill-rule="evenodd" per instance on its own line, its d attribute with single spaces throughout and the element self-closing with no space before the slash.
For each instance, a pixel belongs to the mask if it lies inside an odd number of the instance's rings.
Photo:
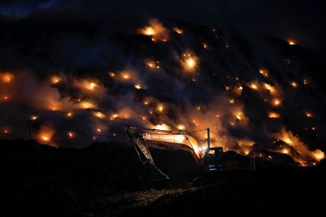
<svg viewBox="0 0 326 217">
<path fill-rule="evenodd" d="M 138 130 L 152 131 L 139 132 Z M 223 152 L 222 147 L 210 147 L 210 130 L 208 132 L 207 148 L 203 148 L 193 137 L 185 131 L 168 131 L 161 129 L 150 129 L 136 126 L 128 126 L 128 137 L 138 153 L 142 164 L 151 171 L 152 179 L 155 181 L 169 179 L 154 164 L 151 152 L 145 141 L 159 141 L 168 143 L 178 143 L 188 146 L 197 165 L 204 170 L 224 171 L 224 170 L 255 170 L 255 159 L 242 155 L 228 156 Z"/>
</svg>

